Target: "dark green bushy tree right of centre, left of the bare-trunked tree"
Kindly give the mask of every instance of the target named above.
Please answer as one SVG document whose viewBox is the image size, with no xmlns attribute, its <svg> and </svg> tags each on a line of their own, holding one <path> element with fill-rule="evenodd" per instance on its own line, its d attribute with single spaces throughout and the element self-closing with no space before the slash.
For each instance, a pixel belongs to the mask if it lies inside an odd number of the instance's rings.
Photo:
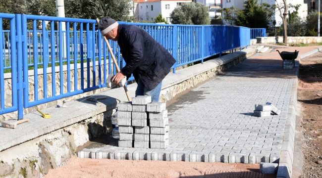
<svg viewBox="0 0 322 178">
<path fill-rule="evenodd" d="M 234 24 L 249 28 L 268 29 L 272 14 L 274 14 L 274 9 L 268 3 L 258 4 L 257 0 L 247 0 L 244 2 L 244 10 L 236 12 Z"/>
</svg>

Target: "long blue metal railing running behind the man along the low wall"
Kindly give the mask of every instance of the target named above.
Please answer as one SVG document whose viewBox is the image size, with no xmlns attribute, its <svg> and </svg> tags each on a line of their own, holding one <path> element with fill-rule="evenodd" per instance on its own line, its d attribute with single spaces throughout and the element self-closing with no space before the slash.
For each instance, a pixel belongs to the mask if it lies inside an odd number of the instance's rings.
<svg viewBox="0 0 322 178">
<path fill-rule="evenodd" d="M 10 21 L 10 30 L 2 30 L 2 19 Z M 27 22 L 32 23 L 32 29 L 27 28 Z M 62 31 L 63 22 L 66 31 Z M 55 23 L 58 30 L 54 30 Z M 137 25 L 163 45 L 177 61 L 172 66 L 174 73 L 175 67 L 250 45 L 250 29 L 245 27 L 119 24 Z M 0 13 L 0 114 L 18 111 L 18 119 L 22 119 L 23 108 L 106 87 L 107 75 L 116 70 L 95 25 L 96 20 L 89 19 Z M 119 67 L 124 67 L 117 42 L 109 44 Z M 3 90 L 5 69 L 10 70 L 12 79 L 10 107 L 6 107 Z M 30 72 L 33 75 L 28 76 Z M 43 77 L 39 79 L 39 75 Z"/>
</svg>

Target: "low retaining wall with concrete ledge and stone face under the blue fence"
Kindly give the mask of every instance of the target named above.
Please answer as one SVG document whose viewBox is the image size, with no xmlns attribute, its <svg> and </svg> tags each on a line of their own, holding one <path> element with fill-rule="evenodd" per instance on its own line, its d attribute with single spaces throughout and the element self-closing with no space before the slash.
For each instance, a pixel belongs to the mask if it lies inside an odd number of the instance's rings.
<svg viewBox="0 0 322 178">
<path fill-rule="evenodd" d="M 161 101 L 168 101 L 176 94 L 196 86 L 256 53 L 253 48 L 227 54 L 177 73 L 169 73 L 162 82 Z M 136 84 L 128 86 L 134 96 Z M 66 103 L 68 108 L 49 107 L 51 119 L 44 119 L 37 112 L 24 117 L 29 122 L 16 130 L 0 128 L 0 178 L 42 178 L 49 169 L 62 166 L 76 156 L 76 148 L 90 138 L 111 131 L 111 115 L 119 101 L 125 101 L 124 89 L 101 92 L 108 98 L 98 103 L 82 99 Z"/>
</svg>

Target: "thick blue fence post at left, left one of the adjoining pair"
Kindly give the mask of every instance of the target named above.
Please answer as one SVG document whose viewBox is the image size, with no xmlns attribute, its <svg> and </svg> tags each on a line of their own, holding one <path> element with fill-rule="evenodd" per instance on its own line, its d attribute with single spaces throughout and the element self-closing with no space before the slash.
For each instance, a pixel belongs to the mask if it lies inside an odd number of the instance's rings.
<svg viewBox="0 0 322 178">
<path fill-rule="evenodd" d="M 21 14 L 16 14 L 16 48 L 17 48 L 17 75 L 18 75 L 18 120 L 23 119 L 23 83 L 22 83 L 22 28 Z M 15 51 L 14 51 L 15 52 Z M 15 60 L 15 59 L 14 59 Z M 12 80 L 15 80 L 12 78 Z M 12 90 L 13 91 L 13 90 Z"/>
</svg>

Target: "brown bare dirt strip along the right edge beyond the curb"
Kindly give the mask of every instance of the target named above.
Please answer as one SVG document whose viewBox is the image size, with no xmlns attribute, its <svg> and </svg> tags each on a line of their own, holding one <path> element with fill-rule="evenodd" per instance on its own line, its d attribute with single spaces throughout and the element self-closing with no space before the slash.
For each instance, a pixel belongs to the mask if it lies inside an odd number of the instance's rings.
<svg viewBox="0 0 322 178">
<path fill-rule="evenodd" d="M 322 178 L 322 52 L 301 60 L 297 98 L 305 142 L 300 178 Z"/>
</svg>

